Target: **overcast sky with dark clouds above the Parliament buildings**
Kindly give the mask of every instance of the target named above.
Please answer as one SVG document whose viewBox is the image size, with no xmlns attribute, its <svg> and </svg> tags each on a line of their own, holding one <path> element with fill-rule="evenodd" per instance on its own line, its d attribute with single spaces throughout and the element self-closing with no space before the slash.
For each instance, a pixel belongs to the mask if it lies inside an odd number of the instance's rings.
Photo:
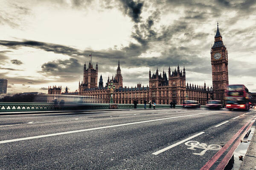
<svg viewBox="0 0 256 170">
<path fill-rule="evenodd" d="M 210 87 L 218 21 L 229 83 L 256 92 L 255 11 L 255 0 L 0 0 L 0 78 L 8 92 L 75 91 L 92 53 L 104 83 L 120 59 L 124 86 L 179 64 L 188 83 Z"/>
</svg>

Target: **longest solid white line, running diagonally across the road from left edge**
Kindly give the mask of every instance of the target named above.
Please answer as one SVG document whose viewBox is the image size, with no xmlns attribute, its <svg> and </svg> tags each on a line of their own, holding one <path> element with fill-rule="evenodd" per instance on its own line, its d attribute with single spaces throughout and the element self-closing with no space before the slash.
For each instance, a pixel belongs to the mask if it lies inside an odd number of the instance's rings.
<svg viewBox="0 0 256 170">
<path fill-rule="evenodd" d="M 180 118 L 180 117 L 195 116 L 195 115 L 201 115 L 201 114 L 207 114 L 207 113 L 216 113 L 216 112 L 220 112 L 220 111 L 197 113 L 197 114 L 190 114 L 190 115 L 184 115 L 184 116 L 175 116 L 175 117 L 169 117 L 169 118 L 163 118 L 163 119 L 153 119 L 153 120 L 146 120 L 146 121 L 141 121 L 141 122 L 125 123 L 125 124 L 120 124 L 120 125 L 95 127 L 95 128 L 90 128 L 90 129 L 73 130 L 73 131 L 62 132 L 62 133 L 52 133 L 52 134 L 48 134 L 48 135 L 40 135 L 40 136 L 32 136 L 32 137 L 19 138 L 19 139 L 11 139 L 11 140 L 0 141 L 0 144 L 9 143 L 9 142 L 23 141 L 23 140 L 29 140 L 29 139 L 44 138 L 44 137 L 48 137 L 48 136 L 57 136 L 57 135 L 64 135 L 64 134 L 70 134 L 70 133 L 85 132 L 85 131 L 90 131 L 90 130 L 98 130 L 98 129 L 106 129 L 106 128 L 111 128 L 111 127 L 134 125 L 134 124 L 146 123 L 146 122 L 154 122 L 154 121 L 159 121 L 159 120 L 175 119 L 175 118 Z"/>
</svg>

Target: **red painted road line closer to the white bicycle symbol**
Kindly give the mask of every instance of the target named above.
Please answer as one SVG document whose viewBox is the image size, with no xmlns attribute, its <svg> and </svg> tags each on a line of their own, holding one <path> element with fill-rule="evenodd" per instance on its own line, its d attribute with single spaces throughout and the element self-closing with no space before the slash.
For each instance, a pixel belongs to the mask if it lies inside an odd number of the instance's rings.
<svg viewBox="0 0 256 170">
<path fill-rule="evenodd" d="M 251 121 L 252 119 L 250 119 Z M 203 166 L 200 170 L 209 170 L 210 167 L 220 158 L 220 156 L 227 150 L 228 147 L 234 142 L 234 140 L 241 134 L 244 128 L 250 123 L 248 121 L 241 129 L 224 145 L 212 158 Z"/>
</svg>

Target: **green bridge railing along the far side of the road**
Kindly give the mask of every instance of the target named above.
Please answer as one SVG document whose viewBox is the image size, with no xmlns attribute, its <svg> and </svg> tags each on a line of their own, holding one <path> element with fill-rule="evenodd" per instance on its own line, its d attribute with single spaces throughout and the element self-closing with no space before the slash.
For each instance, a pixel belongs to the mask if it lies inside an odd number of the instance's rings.
<svg viewBox="0 0 256 170">
<path fill-rule="evenodd" d="M 98 103 L 86 103 L 86 104 L 73 104 L 65 103 L 64 105 L 55 106 L 51 103 L 14 103 L 14 102 L 0 102 L 0 112 L 20 112 L 20 111 L 58 111 L 58 110 L 103 110 L 110 109 L 111 105 L 116 105 L 117 109 L 134 109 L 133 104 L 98 104 Z M 137 109 L 143 109 L 143 104 L 138 104 Z M 147 104 L 146 108 L 149 108 Z M 153 105 L 152 107 L 153 108 Z M 170 105 L 156 105 L 155 108 L 170 108 Z M 176 105 L 176 108 L 182 108 L 182 105 Z M 201 106 L 205 108 L 205 106 Z"/>
</svg>

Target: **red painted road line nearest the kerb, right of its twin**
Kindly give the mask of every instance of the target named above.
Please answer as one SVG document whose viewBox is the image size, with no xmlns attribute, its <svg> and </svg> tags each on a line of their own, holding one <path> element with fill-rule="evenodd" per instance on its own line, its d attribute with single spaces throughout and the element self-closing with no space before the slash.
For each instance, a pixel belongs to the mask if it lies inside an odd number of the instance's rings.
<svg viewBox="0 0 256 170">
<path fill-rule="evenodd" d="M 244 131 L 244 133 L 241 135 L 241 137 L 243 137 L 249 131 L 250 127 L 252 127 L 254 122 L 255 122 L 255 119 L 247 127 L 247 129 Z M 226 165 L 227 165 L 228 161 L 230 160 L 230 158 L 232 157 L 234 151 L 236 150 L 238 145 L 241 143 L 241 141 L 239 139 L 237 139 L 236 143 L 233 145 L 233 147 L 231 147 L 230 151 L 227 153 L 227 155 L 224 157 L 224 159 L 222 159 L 221 163 L 218 164 L 218 167 L 215 170 L 223 170 L 226 167 Z"/>
</svg>

